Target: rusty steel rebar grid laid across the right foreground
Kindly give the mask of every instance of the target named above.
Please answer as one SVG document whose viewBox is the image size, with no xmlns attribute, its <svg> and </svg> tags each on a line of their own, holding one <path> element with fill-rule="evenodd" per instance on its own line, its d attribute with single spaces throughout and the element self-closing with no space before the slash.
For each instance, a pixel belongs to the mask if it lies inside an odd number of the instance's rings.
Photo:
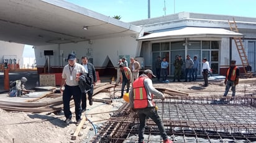
<svg viewBox="0 0 256 143">
<path fill-rule="evenodd" d="M 155 103 L 168 136 L 175 142 L 256 142 L 255 99 L 167 97 L 155 99 Z M 146 124 L 144 141 L 162 142 L 156 124 L 151 119 Z M 125 103 L 93 142 L 137 142 L 138 129 L 139 119 Z"/>
</svg>

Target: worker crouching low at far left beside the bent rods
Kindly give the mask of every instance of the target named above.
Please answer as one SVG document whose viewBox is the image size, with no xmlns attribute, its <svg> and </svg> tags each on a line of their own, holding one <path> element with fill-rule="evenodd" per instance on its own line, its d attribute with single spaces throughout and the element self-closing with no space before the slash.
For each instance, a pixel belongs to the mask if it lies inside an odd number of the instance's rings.
<svg viewBox="0 0 256 143">
<path fill-rule="evenodd" d="M 27 82 L 27 78 L 21 77 L 19 80 L 15 80 L 10 84 L 10 97 L 19 97 L 22 94 L 29 93 L 30 90 L 25 89 L 25 82 Z"/>
</svg>

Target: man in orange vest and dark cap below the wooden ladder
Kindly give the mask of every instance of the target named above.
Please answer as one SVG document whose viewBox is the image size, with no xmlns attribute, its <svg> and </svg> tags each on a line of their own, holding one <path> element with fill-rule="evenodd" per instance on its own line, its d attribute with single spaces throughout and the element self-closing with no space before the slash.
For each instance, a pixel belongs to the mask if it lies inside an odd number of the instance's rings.
<svg viewBox="0 0 256 143">
<path fill-rule="evenodd" d="M 227 93 L 229 92 L 229 89 L 232 90 L 232 97 L 235 97 L 235 85 L 239 82 L 239 67 L 235 66 L 236 61 L 231 60 L 231 64 L 229 66 L 229 69 L 227 69 L 227 76 L 224 81 L 224 84 L 226 84 L 226 90 L 224 93 L 224 97 L 227 96 Z"/>
</svg>

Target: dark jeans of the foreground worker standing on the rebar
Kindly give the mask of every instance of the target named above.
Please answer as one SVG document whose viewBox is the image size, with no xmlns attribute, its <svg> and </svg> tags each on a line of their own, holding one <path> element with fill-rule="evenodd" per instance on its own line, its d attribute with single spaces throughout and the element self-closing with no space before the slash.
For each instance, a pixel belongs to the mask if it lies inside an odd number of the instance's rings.
<svg viewBox="0 0 256 143">
<path fill-rule="evenodd" d="M 165 128 L 162 123 L 162 119 L 158 115 L 157 110 L 155 110 L 155 107 L 147 107 L 144 109 L 138 109 L 137 111 L 140 119 L 139 142 L 144 141 L 145 120 L 147 116 L 157 124 L 162 139 L 168 139 L 167 133 L 165 132 Z"/>
</svg>

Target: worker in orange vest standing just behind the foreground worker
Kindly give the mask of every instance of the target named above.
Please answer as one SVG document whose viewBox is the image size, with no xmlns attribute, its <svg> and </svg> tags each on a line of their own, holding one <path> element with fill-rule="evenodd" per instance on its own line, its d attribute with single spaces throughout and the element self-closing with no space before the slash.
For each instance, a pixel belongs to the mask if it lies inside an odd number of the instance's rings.
<svg viewBox="0 0 256 143">
<path fill-rule="evenodd" d="M 127 88 L 126 93 L 129 92 L 130 82 L 132 82 L 132 72 L 130 71 L 129 67 L 125 67 L 123 64 L 120 64 L 119 67 L 120 67 L 120 78 L 121 78 L 121 82 L 122 82 L 120 98 L 122 98 L 124 96 L 124 87 Z"/>
</svg>

